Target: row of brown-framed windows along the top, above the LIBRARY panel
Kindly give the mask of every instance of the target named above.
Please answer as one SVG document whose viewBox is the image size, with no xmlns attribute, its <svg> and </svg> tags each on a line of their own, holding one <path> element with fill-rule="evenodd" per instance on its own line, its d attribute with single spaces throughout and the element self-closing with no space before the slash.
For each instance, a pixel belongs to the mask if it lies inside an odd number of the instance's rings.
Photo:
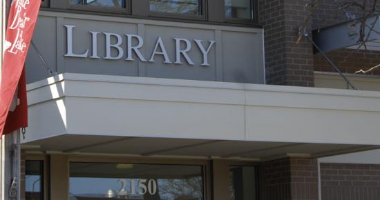
<svg viewBox="0 0 380 200">
<path fill-rule="evenodd" d="M 42 0 L 44 9 L 255 26 L 257 0 Z"/>
</svg>

